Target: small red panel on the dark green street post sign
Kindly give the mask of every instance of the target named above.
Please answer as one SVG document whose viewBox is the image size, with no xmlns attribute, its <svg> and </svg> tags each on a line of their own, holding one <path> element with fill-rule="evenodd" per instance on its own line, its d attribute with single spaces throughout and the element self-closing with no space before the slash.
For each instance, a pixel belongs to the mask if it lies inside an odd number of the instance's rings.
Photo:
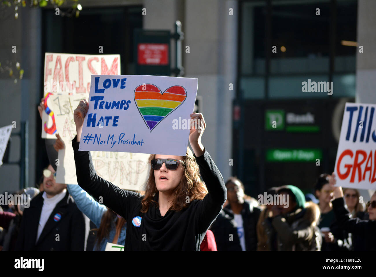
<svg viewBox="0 0 376 277">
<path fill-rule="evenodd" d="M 138 64 L 167 65 L 168 44 L 166 43 L 139 43 Z"/>
</svg>

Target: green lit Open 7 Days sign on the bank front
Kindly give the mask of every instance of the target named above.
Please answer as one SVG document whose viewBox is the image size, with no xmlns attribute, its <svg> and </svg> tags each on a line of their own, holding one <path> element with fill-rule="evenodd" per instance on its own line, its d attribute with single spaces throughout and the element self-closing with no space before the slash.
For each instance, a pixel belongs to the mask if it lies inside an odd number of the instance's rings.
<svg viewBox="0 0 376 277">
<path fill-rule="evenodd" d="M 322 158 L 320 149 L 268 149 L 266 161 L 274 162 L 315 162 Z"/>
</svg>

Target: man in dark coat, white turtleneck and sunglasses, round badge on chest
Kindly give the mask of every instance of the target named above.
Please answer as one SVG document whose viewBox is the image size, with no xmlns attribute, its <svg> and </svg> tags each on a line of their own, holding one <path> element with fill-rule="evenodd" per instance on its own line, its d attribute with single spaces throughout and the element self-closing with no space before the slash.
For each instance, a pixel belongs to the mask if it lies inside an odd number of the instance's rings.
<svg viewBox="0 0 376 277">
<path fill-rule="evenodd" d="M 69 195 L 66 185 L 55 182 L 52 166 L 43 172 L 44 192 L 39 193 L 24 210 L 16 250 L 85 250 L 88 227 Z"/>
</svg>

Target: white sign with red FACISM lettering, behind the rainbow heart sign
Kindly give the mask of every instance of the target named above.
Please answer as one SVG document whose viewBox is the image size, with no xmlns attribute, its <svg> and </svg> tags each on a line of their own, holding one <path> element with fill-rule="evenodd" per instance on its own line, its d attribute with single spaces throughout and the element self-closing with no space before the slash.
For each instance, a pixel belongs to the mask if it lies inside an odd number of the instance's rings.
<svg viewBox="0 0 376 277">
<path fill-rule="evenodd" d="M 88 99 L 92 74 L 120 74 L 120 55 L 45 53 L 43 82 L 47 101 L 42 115 L 42 139 L 55 139 L 56 115 L 72 109 L 71 105 L 59 103 L 56 93 L 70 92 L 80 99 Z M 58 110 L 51 109 L 52 101 Z"/>
</svg>

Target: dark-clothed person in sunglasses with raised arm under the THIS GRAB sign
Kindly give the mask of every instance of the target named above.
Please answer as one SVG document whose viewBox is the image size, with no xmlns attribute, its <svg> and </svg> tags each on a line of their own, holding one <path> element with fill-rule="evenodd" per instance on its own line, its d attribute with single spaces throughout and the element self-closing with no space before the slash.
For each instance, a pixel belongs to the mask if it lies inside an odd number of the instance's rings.
<svg viewBox="0 0 376 277">
<path fill-rule="evenodd" d="M 332 176 L 335 177 L 334 174 Z M 334 180 L 334 183 L 331 184 L 335 198 L 332 204 L 338 227 L 354 234 L 355 251 L 376 250 L 376 192 L 373 193 L 370 202 L 367 203 L 370 220 L 360 220 L 351 217 L 351 213 L 345 206 L 342 187 L 334 187 L 335 183 Z"/>
</svg>

